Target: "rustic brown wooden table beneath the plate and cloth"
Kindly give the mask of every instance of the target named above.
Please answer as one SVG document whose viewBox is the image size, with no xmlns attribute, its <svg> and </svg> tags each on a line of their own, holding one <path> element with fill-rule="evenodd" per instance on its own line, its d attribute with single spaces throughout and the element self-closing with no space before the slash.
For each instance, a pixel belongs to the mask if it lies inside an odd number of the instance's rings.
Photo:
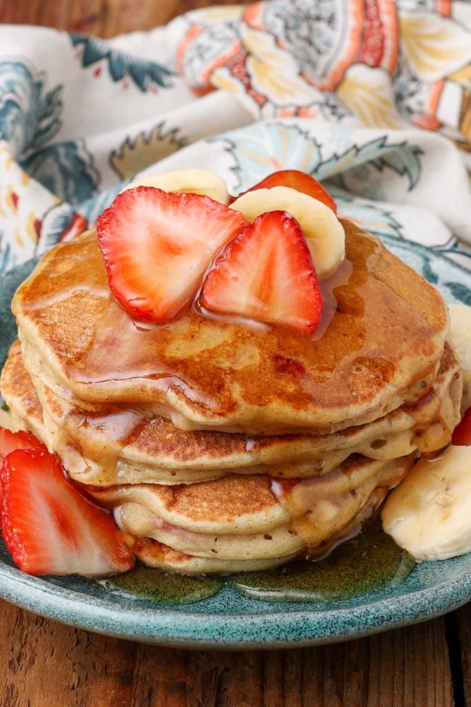
<svg viewBox="0 0 471 707">
<path fill-rule="evenodd" d="M 110 37 L 210 4 L 0 0 L 0 22 Z M 358 641 L 246 653 L 119 641 L 6 602 L 0 626 L 2 707 L 471 707 L 471 604 Z"/>
</svg>

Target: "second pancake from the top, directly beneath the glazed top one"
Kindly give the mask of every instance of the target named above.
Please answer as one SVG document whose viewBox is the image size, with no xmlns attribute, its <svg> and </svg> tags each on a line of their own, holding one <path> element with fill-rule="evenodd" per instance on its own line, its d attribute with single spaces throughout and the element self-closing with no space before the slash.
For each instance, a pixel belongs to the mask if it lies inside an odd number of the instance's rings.
<svg viewBox="0 0 471 707">
<path fill-rule="evenodd" d="M 40 380 L 33 385 L 18 342 L 8 352 L 0 382 L 16 420 L 61 457 L 73 479 L 95 486 L 190 484 L 230 473 L 310 478 L 332 472 L 352 454 L 388 460 L 429 452 L 448 443 L 461 390 L 458 362 L 446 344 L 434 387 L 416 404 L 329 436 L 260 437 L 182 431 L 139 409 L 83 411 Z"/>
</svg>

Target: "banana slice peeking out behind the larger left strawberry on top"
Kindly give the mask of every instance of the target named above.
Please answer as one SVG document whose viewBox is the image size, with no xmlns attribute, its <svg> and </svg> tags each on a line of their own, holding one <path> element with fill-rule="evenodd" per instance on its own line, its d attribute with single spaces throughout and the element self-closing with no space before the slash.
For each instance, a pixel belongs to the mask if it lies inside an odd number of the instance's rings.
<svg viewBox="0 0 471 707">
<path fill-rule="evenodd" d="M 203 194 L 211 197 L 220 204 L 229 203 L 229 192 L 226 182 L 213 170 L 181 169 L 168 170 L 155 175 L 149 175 L 135 180 L 122 190 L 135 189 L 136 187 L 156 187 L 164 192 L 186 192 L 189 194 Z"/>
</svg>

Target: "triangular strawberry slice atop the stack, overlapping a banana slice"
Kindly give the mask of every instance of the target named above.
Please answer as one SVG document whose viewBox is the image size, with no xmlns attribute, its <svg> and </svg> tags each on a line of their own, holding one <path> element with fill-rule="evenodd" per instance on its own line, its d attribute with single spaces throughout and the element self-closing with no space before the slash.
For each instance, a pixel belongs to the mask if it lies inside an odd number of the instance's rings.
<svg viewBox="0 0 471 707">
<path fill-rule="evenodd" d="M 201 305 L 314 332 L 322 297 L 309 247 L 287 211 L 268 211 L 229 243 L 203 283 Z"/>
</svg>

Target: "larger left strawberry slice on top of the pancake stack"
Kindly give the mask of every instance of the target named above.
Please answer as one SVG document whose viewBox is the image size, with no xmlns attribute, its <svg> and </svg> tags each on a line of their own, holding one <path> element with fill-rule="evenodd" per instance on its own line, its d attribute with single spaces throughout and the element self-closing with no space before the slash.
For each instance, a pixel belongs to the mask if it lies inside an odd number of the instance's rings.
<svg viewBox="0 0 471 707">
<path fill-rule="evenodd" d="M 196 296 L 217 252 L 247 224 L 199 194 L 128 189 L 97 219 L 109 287 L 132 317 L 172 320 Z"/>
</svg>

